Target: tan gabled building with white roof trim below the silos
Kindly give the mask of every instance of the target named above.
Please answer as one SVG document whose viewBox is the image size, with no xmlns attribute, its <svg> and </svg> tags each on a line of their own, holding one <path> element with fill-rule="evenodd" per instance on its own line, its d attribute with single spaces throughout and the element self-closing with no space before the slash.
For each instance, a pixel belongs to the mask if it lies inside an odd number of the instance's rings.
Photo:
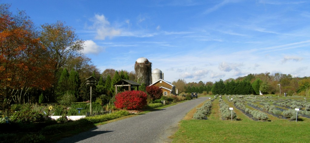
<svg viewBox="0 0 310 143">
<path fill-rule="evenodd" d="M 175 95 L 175 86 L 170 82 L 159 79 L 150 86 L 158 86 L 163 91 L 163 95 Z"/>
</svg>

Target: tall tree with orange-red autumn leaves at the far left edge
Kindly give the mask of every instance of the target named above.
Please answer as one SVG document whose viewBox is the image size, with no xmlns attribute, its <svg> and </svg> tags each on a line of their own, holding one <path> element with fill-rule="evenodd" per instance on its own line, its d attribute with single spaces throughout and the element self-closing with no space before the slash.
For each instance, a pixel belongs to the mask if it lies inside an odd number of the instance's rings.
<svg viewBox="0 0 310 143">
<path fill-rule="evenodd" d="M 31 20 L 23 11 L 11 15 L 9 7 L 0 5 L 0 98 L 26 103 L 30 102 L 29 89 L 51 87 L 54 61 L 33 31 Z"/>
</svg>

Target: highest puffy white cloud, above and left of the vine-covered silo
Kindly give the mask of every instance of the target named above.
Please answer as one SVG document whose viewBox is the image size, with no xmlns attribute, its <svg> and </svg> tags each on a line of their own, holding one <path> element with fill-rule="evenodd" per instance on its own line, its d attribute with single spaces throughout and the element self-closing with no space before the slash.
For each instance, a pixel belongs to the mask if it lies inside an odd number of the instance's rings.
<svg viewBox="0 0 310 143">
<path fill-rule="evenodd" d="M 96 14 L 93 22 L 93 26 L 90 28 L 96 30 L 96 39 L 104 40 L 106 37 L 112 38 L 121 34 L 120 29 L 115 29 L 114 27 L 111 27 L 109 21 L 105 18 L 104 15 Z"/>
</svg>

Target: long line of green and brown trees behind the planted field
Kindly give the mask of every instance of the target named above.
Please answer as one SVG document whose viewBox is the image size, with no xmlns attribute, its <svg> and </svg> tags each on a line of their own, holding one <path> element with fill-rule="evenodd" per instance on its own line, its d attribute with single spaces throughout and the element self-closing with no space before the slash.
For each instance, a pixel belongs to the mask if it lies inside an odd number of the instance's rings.
<svg viewBox="0 0 310 143">
<path fill-rule="evenodd" d="M 220 79 L 216 82 L 200 81 L 186 83 L 184 79 L 172 82 L 177 86 L 179 93 L 199 92 L 206 94 L 227 94 L 227 95 L 259 95 L 278 94 L 283 96 L 310 96 L 310 77 L 293 77 L 290 74 L 270 74 L 269 72 L 260 74 L 248 74 L 236 79 L 229 78 L 225 81 Z"/>
</svg>

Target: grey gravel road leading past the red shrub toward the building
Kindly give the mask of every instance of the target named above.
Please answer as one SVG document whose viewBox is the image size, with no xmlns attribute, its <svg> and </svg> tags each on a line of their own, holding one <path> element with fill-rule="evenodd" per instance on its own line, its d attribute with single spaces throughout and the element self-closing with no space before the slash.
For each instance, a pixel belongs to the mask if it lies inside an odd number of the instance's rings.
<svg viewBox="0 0 310 143">
<path fill-rule="evenodd" d="M 158 111 L 118 120 L 92 128 L 73 137 L 64 138 L 59 143 L 71 142 L 105 142 L 105 143 L 162 143 L 171 142 L 168 138 L 178 129 L 178 123 L 198 104 L 209 97 L 166 107 Z"/>
</svg>

